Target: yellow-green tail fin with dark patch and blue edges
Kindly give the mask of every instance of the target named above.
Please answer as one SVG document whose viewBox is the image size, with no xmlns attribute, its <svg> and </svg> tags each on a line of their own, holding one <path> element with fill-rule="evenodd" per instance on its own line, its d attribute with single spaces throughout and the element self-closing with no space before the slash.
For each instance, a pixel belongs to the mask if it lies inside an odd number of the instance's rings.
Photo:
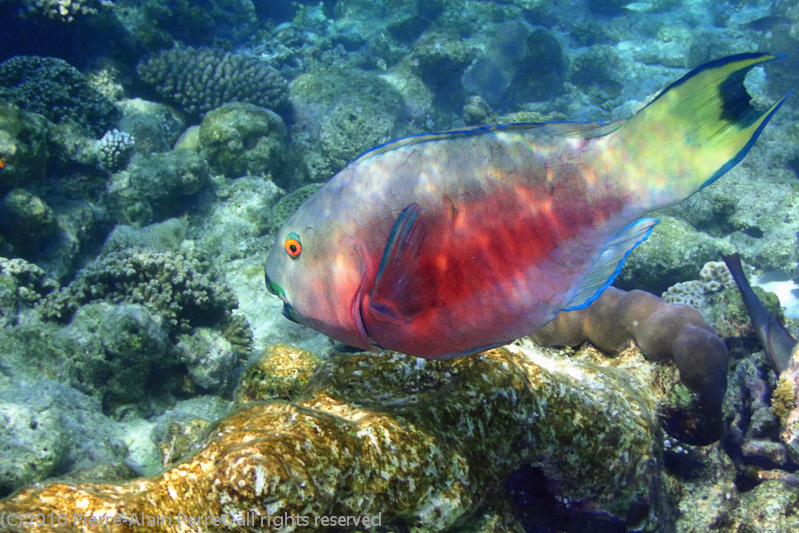
<svg viewBox="0 0 799 533">
<path fill-rule="evenodd" d="M 780 57 L 762 53 L 725 57 L 672 83 L 619 131 L 623 142 L 635 147 L 637 153 L 630 155 L 641 160 L 651 157 L 669 169 L 662 183 L 677 189 L 674 201 L 712 183 L 746 155 L 788 98 L 760 111 L 750 104 L 744 87 L 749 70 Z M 652 165 L 643 163 L 641 170 L 645 169 Z"/>
</svg>

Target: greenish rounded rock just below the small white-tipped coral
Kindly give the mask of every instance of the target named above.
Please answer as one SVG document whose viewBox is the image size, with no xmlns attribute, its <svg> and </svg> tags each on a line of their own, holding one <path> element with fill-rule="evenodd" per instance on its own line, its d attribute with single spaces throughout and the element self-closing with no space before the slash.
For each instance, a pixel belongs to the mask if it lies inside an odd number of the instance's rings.
<svg viewBox="0 0 799 533">
<path fill-rule="evenodd" d="M 136 155 L 112 176 L 103 203 L 120 222 L 144 226 L 183 214 L 209 184 L 208 164 L 196 152 Z"/>
</svg>

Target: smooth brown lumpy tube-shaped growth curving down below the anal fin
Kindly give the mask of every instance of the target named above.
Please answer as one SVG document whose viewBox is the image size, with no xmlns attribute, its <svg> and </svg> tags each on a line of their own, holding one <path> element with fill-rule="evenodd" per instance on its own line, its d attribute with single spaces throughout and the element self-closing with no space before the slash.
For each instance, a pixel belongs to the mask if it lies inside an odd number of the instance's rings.
<svg viewBox="0 0 799 533">
<path fill-rule="evenodd" d="M 694 308 L 609 287 L 587 308 L 560 313 L 532 338 L 546 346 L 589 341 L 607 352 L 635 341 L 650 361 L 673 361 L 688 388 L 688 394 L 675 394 L 673 405 L 664 406 L 667 430 L 690 444 L 710 444 L 721 436 L 729 354 Z"/>
</svg>

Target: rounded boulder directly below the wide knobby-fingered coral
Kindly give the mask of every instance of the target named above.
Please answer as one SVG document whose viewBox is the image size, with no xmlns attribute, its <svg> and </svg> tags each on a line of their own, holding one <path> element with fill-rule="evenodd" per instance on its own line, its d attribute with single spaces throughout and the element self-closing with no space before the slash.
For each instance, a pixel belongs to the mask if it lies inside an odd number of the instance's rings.
<svg viewBox="0 0 799 533">
<path fill-rule="evenodd" d="M 264 176 L 283 187 L 297 167 L 283 119 L 252 104 L 225 104 L 207 113 L 200 123 L 200 153 L 214 173 Z"/>
</svg>

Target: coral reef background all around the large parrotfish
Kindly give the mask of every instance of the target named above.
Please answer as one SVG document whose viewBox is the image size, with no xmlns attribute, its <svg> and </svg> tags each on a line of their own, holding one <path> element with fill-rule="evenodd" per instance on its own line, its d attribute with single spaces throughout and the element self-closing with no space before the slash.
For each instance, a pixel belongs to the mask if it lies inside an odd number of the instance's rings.
<svg viewBox="0 0 799 533">
<path fill-rule="evenodd" d="M 635 345 L 354 353 L 286 320 L 263 266 L 320 184 L 394 138 L 626 118 L 705 62 L 784 53 L 747 77 L 765 109 L 799 85 L 796 1 L 0 15 L 1 530 L 26 512 L 64 531 L 97 530 L 90 514 L 127 517 L 120 531 L 180 514 L 226 517 L 199 530 L 799 530 L 799 356 L 775 370 L 720 262 L 739 253 L 796 336 L 796 94 L 738 166 L 655 213 L 614 283 L 694 307 L 723 339 L 720 438 L 669 431 L 701 394 Z"/>
</svg>

